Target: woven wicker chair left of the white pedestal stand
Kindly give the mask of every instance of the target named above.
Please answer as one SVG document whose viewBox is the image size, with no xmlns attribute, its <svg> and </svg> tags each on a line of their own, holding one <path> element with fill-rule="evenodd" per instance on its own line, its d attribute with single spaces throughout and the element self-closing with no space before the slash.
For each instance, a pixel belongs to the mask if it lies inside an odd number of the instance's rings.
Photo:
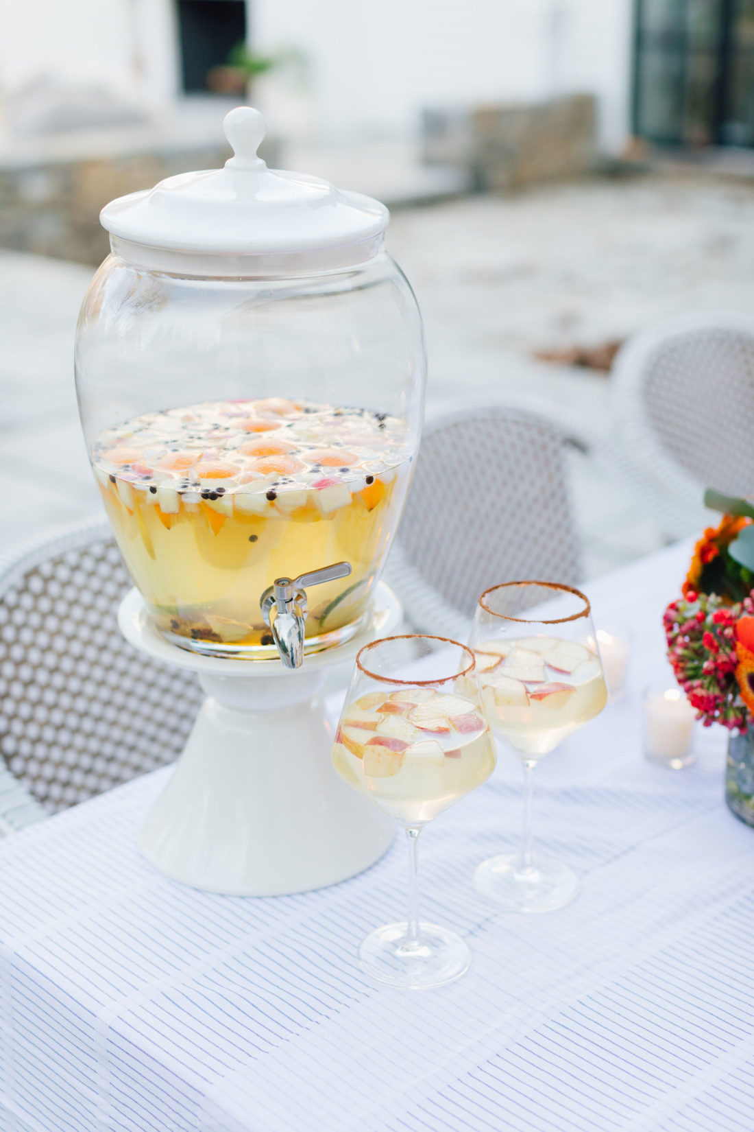
<svg viewBox="0 0 754 1132">
<path fill-rule="evenodd" d="M 121 636 L 130 584 L 103 523 L 0 559 L 0 834 L 180 754 L 202 694 Z"/>
</svg>

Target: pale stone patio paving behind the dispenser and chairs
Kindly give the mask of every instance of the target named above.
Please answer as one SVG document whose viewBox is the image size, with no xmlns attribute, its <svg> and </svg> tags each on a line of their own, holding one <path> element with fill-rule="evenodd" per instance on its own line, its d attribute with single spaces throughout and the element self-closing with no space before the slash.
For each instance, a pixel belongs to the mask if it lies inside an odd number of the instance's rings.
<svg viewBox="0 0 754 1132">
<path fill-rule="evenodd" d="M 424 312 L 430 406 L 535 400 L 607 435 L 609 379 L 538 362 L 536 349 L 598 344 L 679 312 L 754 310 L 754 188 L 743 181 L 678 174 L 466 197 L 397 211 L 389 249 Z M 72 385 L 90 276 L 0 251 L 5 547 L 98 511 Z M 574 457 L 573 475 L 589 576 L 661 544 L 617 473 Z"/>
</svg>

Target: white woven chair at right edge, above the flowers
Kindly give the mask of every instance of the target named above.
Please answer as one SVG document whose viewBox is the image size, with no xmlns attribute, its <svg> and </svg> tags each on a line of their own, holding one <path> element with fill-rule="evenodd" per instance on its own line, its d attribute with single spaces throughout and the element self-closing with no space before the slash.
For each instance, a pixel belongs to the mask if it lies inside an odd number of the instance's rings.
<svg viewBox="0 0 754 1132">
<path fill-rule="evenodd" d="M 669 538 L 708 523 L 705 487 L 754 494 L 754 319 L 670 319 L 613 367 L 616 440 Z"/>
</svg>

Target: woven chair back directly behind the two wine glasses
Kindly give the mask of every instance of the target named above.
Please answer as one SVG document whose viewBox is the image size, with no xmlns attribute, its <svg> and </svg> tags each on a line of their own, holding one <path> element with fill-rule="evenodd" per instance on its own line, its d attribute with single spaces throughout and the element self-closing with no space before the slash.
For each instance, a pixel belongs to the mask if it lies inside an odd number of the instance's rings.
<svg viewBox="0 0 754 1132">
<path fill-rule="evenodd" d="M 565 448 L 581 430 L 537 405 L 428 413 L 388 581 L 410 625 L 465 641 L 483 590 L 582 576 Z"/>
</svg>

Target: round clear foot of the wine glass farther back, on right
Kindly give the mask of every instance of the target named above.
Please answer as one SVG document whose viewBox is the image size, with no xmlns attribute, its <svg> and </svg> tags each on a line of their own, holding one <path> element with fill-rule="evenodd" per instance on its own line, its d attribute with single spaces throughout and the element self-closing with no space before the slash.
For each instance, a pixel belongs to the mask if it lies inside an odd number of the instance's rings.
<svg viewBox="0 0 754 1132">
<path fill-rule="evenodd" d="M 563 861 L 535 857 L 527 871 L 518 864 L 518 854 L 491 857 L 474 874 L 474 887 L 506 912 L 552 912 L 570 903 L 579 891 L 579 877 Z"/>
</svg>

